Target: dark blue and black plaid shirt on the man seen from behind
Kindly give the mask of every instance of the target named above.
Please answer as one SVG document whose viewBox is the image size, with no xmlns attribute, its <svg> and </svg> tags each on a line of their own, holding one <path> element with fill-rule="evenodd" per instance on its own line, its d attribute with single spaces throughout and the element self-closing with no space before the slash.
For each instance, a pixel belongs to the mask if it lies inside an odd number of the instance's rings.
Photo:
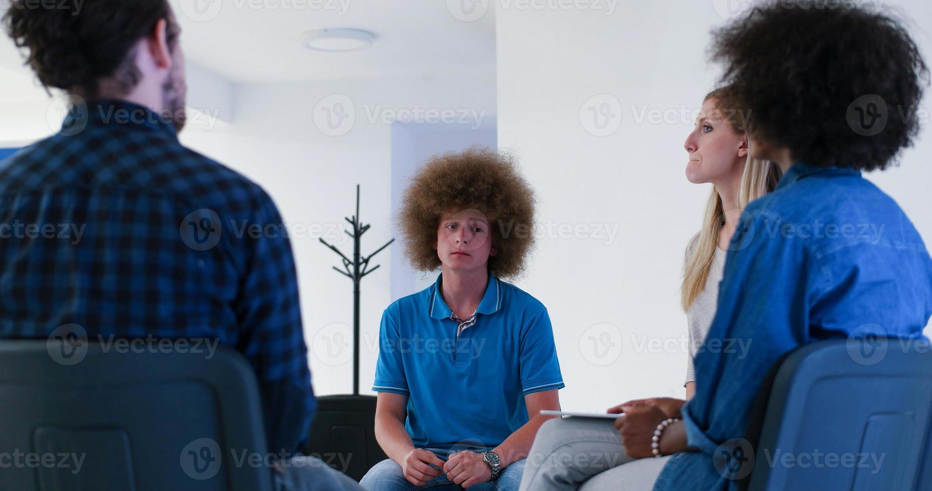
<svg viewBox="0 0 932 491">
<path fill-rule="evenodd" d="M 0 162 L 0 337 L 74 323 L 91 341 L 236 348 L 262 391 L 269 450 L 295 452 L 315 402 L 281 224 L 265 191 L 155 113 L 76 106 L 61 132 Z"/>
</svg>

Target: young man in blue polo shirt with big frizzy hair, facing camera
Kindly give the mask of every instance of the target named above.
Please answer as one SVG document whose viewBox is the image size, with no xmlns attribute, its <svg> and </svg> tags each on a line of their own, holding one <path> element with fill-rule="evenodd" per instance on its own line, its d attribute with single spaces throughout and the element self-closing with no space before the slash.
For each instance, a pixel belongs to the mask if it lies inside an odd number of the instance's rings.
<svg viewBox="0 0 932 491">
<path fill-rule="evenodd" d="M 418 170 L 400 222 L 411 264 L 440 275 L 382 316 L 373 390 L 390 458 L 361 484 L 516 490 L 564 387 L 547 309 L 501 280 L 526 266 L 534 193 L 513 158 L 472 148 Z"/>
</svg>

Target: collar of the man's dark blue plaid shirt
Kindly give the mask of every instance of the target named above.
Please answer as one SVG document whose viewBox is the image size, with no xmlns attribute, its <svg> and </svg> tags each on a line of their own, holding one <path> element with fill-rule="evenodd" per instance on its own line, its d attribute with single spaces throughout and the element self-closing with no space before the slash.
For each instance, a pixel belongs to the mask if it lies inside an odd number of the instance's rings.
<svg viewBox="0 0 932 491">
<path fill-rule="evenodd" d="M 110 99 L 84 101 L 78 99 L 68 104 L 68 114 L 62 122 L 62 133 L 75 135 L 87 127 L 124 125 L 130 128 L 148 128 L 163 131 L 177 138 L 171 119 L 135 102 Z"/>
</svg>

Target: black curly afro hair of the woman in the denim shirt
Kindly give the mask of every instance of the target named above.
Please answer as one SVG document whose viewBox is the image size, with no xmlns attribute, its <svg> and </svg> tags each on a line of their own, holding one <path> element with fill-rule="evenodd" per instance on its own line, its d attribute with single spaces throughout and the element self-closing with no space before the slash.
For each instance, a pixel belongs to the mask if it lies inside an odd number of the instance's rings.
<svg viewBox="0 0 932 491">
<path fill-rule="evenodd" d="M 906 29 L 883 13 L 779 0 L 712 35 L 711 58 L 731 86 L 725 106 L 747 108 L 752 139 L 785 146 L 796 160 L 883 170 L 919 131 L 928 69 Z M 865 112 L 879 126 L 865 126 Z"/>
</svg>

